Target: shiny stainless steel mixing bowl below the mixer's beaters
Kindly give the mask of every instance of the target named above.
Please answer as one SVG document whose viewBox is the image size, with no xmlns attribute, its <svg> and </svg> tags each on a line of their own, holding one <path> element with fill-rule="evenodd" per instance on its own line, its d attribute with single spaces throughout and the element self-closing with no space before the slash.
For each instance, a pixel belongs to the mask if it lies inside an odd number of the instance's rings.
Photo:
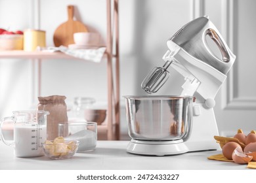
<svg viewBox="0 0 256 183">
<path fill-rule="evenodd" d="M 192 126 L 192 97 L 124 96 L 129 136 L 141 141 L 186 141 Z"/>
</svg>

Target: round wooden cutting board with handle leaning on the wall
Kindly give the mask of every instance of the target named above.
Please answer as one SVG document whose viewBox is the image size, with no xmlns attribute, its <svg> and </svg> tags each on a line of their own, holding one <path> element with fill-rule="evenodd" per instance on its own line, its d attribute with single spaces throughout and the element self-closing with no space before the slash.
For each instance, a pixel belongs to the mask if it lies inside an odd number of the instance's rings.
<svg viewBox="0 0 256 183">
<path fill-rule="evenodd" d="M 74 33 L 88 32 L 87 27 L 81 22 L 73 19 L 74 6 L 68 6 L 68 21 L 60 24 L 53 35 L 53 42 L 55 46 L 68 46 L 68 44 L 74 44 Z"/>
</svg>

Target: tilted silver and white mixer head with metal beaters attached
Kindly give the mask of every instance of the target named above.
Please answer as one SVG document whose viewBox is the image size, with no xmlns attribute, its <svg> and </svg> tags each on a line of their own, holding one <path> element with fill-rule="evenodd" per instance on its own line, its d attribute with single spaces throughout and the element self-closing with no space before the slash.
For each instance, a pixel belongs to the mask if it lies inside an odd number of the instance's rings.
<svg viewBox="0 0 256 183">
<path fill-rule="evenodd" d="M 221 59 L 215 56 L 209 48 L 207 36 L 217 44 L 221 51 Z M 215 85 L 213 97 L 236 59 L 208 16 L 196 18 L 181 27 L 168 39 L 167 46 L 169 50 L 163 56 L 165 60 L 163 67 L 152 69 L 141 84 L 142 89 L 147 93 L 156 93 L 165 84 L 169 78 L 167 68 L 173 63 L 173 68 L 183 76 L 192 75 L 203 82 L 203 85 L 200 84 L 203 87 L 203 89 L 199 88 L 200 92 L 207 93 L 208 86 Z"/>
</svg>

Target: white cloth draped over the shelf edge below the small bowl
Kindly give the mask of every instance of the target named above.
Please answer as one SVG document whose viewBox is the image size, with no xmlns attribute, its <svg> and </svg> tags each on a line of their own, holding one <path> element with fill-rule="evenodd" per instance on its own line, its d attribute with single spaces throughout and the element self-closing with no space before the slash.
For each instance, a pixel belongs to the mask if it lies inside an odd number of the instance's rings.
<svg viewBox="0 0 256 183">
<path fill-rule="evenodd" d="M 48 47 L 43 52 L 63 52 L 64 54 L 74 56 L 75 58 L 86 59 L 89 61 L 100 62 L 106 51 L 106 47 L 96 49 L 70 49 L 66 46 Z"/>
</svg>

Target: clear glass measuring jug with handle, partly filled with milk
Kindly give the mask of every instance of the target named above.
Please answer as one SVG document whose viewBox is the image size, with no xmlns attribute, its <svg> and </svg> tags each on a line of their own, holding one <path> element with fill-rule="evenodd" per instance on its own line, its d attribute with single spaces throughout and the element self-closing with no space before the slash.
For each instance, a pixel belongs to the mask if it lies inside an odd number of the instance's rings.
<svg viewBox="0 0 256 183">
<path fill-rule="evenodd" d="M 11 117 L 0 122 L 0 138 L 8 146 L 14 146 L 16 157 L 43 156 L 43 142 L 47 139 L 47 115 L 44 110 L 13 111 Z M 5 124 L 13 126 L 13 141 L 5 140 Z"/>
</svg>

